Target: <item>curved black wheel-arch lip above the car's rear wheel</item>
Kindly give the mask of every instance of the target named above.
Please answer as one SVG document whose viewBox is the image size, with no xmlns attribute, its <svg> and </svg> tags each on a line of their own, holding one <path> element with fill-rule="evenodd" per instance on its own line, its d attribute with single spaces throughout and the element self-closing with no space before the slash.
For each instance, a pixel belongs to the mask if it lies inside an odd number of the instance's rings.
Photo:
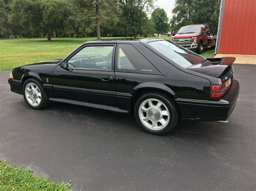
<svg viewBox="0 0 256 191">
<path fill-rule="evenodd" d="M 139 90 L 143 90 L 143 89 L 162 90 L 162 91 L 165 91 L 166 93 L 172 95 L 172 97 L 174 99 L 177 98 L 176 94 L 174 93 L 174 91 L 171 88 L 165 86 L 164 84 L 156 83 L 156 82 L 140 83 L 136 87 L 133 88 L 133 91 L 131 94 L 134 95 L 134 94 L 136 94 L 136 92 L 138 92 Z"/>
</svg>

